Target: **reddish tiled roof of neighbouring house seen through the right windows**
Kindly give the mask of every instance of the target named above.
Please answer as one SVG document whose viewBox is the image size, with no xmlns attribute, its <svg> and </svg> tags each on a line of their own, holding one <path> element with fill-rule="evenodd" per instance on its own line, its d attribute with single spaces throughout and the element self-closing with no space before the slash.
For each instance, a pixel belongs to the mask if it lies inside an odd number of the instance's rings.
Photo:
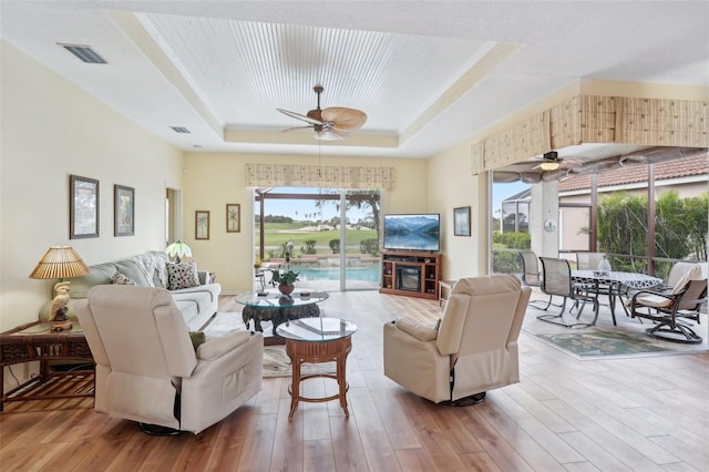
<svg viewBox="0 0 709 472">
<path fill-rule="evenodd" d="M 709 153 L 655 164 L 655 181 L 709 174 Z M 647 165 L 629 165 L 599 173 L 598 187 L 647 181 Z M 575 175 L 558 182 L 559 192 L 590 188 L 590 175 Z"/>
</svg>

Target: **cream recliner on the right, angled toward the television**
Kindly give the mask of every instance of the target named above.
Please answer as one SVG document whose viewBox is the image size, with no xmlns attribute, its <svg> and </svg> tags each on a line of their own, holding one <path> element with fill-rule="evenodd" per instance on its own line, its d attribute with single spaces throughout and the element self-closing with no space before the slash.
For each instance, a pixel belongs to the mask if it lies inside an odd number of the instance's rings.
<svg viewBox="0 0 709 472">
<path fill-rule="evenodd" d="M 438 331 L 408 317 L 384 325 L 384 374 L 435 403 L 460 406 L 518 382 L 517 337 L 530 294 L 512 275 L 460 279 Z"/>
</svg>

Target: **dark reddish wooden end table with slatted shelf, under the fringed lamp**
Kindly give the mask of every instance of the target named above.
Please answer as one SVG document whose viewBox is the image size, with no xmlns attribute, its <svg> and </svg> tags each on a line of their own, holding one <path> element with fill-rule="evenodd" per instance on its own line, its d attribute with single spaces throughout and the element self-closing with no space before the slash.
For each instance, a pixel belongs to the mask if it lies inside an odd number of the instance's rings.
<svg viewBox="0 0 709 472">
<path fill-rule="evenodd" d="M 58 360 L 85 361 L 91 368 L 59 371 L 50 366 Z M 94 361 L 76 321 L 64 332 L 52 332 L 49 322 L 34 321 L 0 334 L 0 373 L 6 366 L 32 361 L 40 362 L 39 376 L 2 393 L 0 412 L 7 401 L 93 397 Z M 0 374 L 0 392 L 4 392 L 4 374 Z"/>
</svg>

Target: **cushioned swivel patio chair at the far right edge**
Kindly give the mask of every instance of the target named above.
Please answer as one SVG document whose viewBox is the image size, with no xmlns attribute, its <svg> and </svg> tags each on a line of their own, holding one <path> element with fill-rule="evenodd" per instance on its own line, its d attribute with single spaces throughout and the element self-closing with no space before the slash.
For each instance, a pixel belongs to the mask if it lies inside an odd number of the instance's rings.
<svg viewBox="0 0 709 472">
<path fill-rule="evenodd" d="M 640 290 L 629 301 L 633 318 L 646 318 L 656 325 L 647 329 L 655 338 L 698 345 L 701 337 L 684 320 L 699 324 L 702 304 L 707 301 L 707 279 L 700 265 L 693 265 L 669 291 Z"/>
</svg>

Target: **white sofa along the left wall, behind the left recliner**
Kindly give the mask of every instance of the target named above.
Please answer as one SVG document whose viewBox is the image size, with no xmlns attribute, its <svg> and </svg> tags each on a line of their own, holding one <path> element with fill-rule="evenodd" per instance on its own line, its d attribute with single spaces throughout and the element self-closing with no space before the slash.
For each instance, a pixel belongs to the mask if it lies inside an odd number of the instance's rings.
<svg viewBox="0 0 709 472">
<path fill-rule="evenodd" d="M 116 273 L 123 274 L 137 286 L 166 288 L 182 312 L 191 331 L 198 331 L 217 311 L 222 286 L 210 283 L 207 271 L 198 271 L 201 285 L 189 288 L 171 289 L 167 264 L 169 258 L 163 252 L 152 250 L 137 256 L 90 266 L 90 273 L 70 279 L 71 300 L 68 305 L 69 317 L 75 317 L 74 301 L 89 296 L 96 285 L 111 285 Z M 51 300 L 40 310 L 40 319 L 49 318 Z"/>
</svg>

